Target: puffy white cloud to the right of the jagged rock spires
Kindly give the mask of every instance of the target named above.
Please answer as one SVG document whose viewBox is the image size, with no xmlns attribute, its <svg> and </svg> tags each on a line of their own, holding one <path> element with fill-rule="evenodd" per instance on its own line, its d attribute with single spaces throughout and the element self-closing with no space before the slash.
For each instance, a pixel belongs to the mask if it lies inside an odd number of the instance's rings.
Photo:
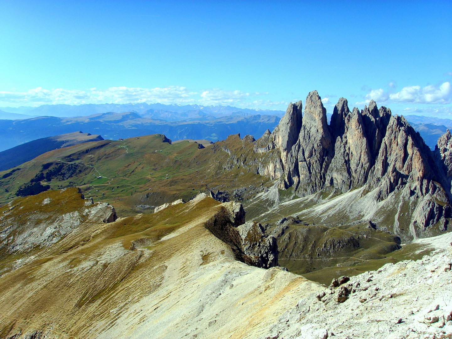
<svg viewBox="0 0 452 339">
<path fill-rule="evenodd" d="M 407 86 L 398 93 L 389 94 L 389 98 L 394 102 L 414 103 L 414 104 L 449 104 L 451 102 L 451 84 L 445 82 L 439 87 L 429 85 Z"/>
</svg>

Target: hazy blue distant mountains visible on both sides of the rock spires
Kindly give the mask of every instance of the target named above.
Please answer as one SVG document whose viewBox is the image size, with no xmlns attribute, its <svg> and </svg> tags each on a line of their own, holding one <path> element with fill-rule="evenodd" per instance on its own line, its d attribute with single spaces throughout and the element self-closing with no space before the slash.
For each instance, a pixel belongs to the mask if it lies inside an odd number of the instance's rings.
<svg viewBox="0 0 452 339">
<path fill-rule="evenodd" d="M 79 130 L 108 139 L 162 133 L 173 140 L 225 139 L 229 134 L 262 136 L 278 124 L 283 111 L 231 106 L 164 104 L 42 105 L 0 108 L 0 151 L 43 137 Z M 70 118 L 72 117 L 72 118 Z M 331 114 L 327 114 L 330 121 Z M 406 115 L 433 150 L 451 119 Z M 11 120 L 20 120 L 12 122 Z"/>
</svg>

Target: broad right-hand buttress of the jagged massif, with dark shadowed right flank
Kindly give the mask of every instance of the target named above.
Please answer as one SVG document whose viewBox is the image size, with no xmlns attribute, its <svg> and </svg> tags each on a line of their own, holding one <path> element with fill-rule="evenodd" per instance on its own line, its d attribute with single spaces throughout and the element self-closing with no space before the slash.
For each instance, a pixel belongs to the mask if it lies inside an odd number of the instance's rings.
<svg viewBox="0 0 452 339">
<path fill-rule="evenodd" d="M 404 117 L 391 116 L 368 180 L 369 189 L 376 189 L 377 200 L 392 192 L 400 192 L 400 203 L 415 197 L 418 202 L 410 227 L 422 232 L 438 224 L 446 230 L 450 194 L 443 189 L 446 180 L 442 174 L 419 133 Z"/>
</svg>

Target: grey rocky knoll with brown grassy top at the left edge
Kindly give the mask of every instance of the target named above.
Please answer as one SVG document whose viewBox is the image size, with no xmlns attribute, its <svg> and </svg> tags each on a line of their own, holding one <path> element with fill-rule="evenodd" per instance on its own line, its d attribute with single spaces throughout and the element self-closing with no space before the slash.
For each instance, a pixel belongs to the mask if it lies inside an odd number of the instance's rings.
<svg viewBox="0 0 452 339">
<path fill-rule="evenodd" d="M 30 209 L 32 202 L 40 208 Z M 14 203 L 0 217 L 0 258 L 4 253 L 19 255 L 46 249 L 80 231 L 84 223 L 110 223 L 117 219 L 112 205 L 84 199 L 77 188 L 47 191 Z M 68 208 L 72 211 L 59 212 Z M 14 268 L 25 263 L 22 260 Z"/>
</svg>

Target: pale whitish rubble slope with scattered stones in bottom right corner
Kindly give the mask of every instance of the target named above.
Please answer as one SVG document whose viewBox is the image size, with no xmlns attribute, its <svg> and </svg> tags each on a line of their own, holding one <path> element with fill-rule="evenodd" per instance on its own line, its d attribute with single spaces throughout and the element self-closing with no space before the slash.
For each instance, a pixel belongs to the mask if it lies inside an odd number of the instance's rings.
<svg viewBox="0 0 452 339">
<path fill-rule="evenodd" d="M 452 237 L 430 239 L 432 255 L 341 277 L 302 298 L 266 338 L 452 338 Z"/>
</svg>

